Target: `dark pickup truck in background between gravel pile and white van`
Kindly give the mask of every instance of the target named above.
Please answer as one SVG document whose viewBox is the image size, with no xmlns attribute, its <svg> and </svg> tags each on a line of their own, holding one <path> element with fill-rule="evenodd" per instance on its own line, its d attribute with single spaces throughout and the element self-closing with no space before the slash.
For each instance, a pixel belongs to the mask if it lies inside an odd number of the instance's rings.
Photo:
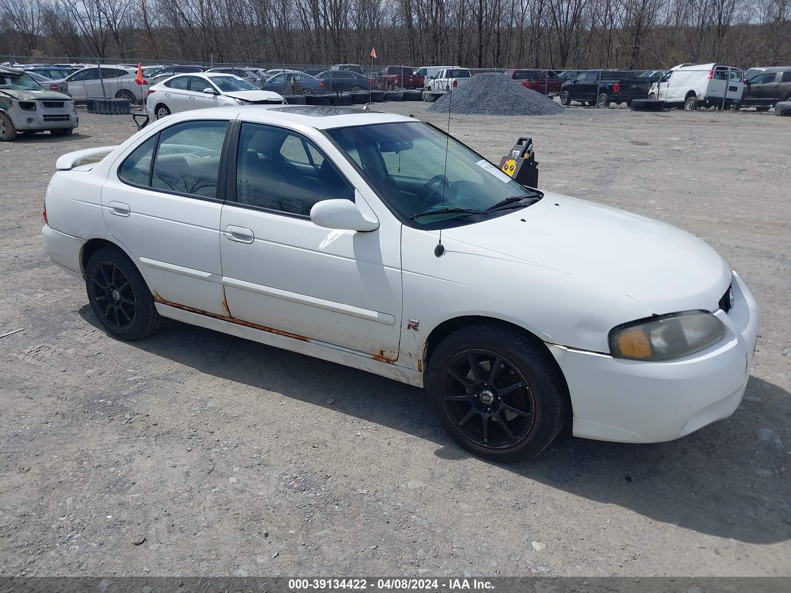
<svg viewBox="0 0 791 593">
<path fill-rule="evenodd" d="M 585 70 L 560 88 L 560 102 L 609 107 L 611 103 L 630 105 L 634 99 L 648 98 L 649 83 L 629 70 Z"/>
</svg>

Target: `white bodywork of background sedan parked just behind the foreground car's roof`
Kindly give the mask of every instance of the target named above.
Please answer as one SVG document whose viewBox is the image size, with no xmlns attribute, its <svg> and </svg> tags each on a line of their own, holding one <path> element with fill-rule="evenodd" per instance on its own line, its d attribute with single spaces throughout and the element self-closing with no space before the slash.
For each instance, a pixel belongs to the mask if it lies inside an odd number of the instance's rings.
<svg viewBox="0 0 791 593">
<path fill-rule="evenodd" d="M 263 90 L 244 90 L 225 92 L 214 79 L 218 77 L 232 77 L 242 80 L 233 74 L 225 73 L 192 73 L 176 74 L 168 77 L 164 81 L 158 82 L 149 89 L 146 97 L 146 111 L 150 119 L 157 119 L 157 107 L 165 106 L 170 113 L 180 113 L 191 109 L 204 109 L 210 107 L 225 107 L 245 103 L 283 103 L 283 97 L 278 93 Z M 195 89 L 195 82 L 200 81 L 200 89 Z M 187 85 L 187 88 L 180 88 L 180 83 Z M 204 93 L 205 89 L 213 89 L 215 94 Z"/>
</svg>

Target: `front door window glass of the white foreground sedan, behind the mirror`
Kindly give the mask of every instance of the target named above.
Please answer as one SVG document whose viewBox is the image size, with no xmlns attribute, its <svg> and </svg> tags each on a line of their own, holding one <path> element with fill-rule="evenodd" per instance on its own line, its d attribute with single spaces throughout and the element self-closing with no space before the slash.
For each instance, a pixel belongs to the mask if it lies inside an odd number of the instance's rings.
<svg viewBox="0 0 791 593">
<path fill-rule="evenodd" d="M 313 204 L 335 198 L 354 201 L 354 188 L 308 138 L 276 127 L 242 124 L 237 202 L 307 217 Z"/>
</svg>

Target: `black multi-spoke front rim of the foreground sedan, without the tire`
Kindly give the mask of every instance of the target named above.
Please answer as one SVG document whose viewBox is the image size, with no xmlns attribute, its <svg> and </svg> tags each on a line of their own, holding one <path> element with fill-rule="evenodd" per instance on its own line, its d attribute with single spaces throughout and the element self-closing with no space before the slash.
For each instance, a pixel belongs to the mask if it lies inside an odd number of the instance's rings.
<svg viewBox="0 0 791 593">
<path fill-rule="evenodd" d="M 532 429 L 535 402 L 528 380 L 501 355 L 485 349 L 457 353 L 440 385 L 445 413 L 475 444 L 513 447 Z"/>
</svg>

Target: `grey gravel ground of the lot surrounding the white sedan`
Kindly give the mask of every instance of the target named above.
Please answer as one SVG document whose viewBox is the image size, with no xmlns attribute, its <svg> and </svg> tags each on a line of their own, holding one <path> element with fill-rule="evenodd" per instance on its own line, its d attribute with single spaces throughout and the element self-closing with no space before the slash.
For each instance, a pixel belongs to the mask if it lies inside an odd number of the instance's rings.
<svg viewBox="0 0 791 593">
<path fill-rule="evenodd" d="M 702 237 L 764 315 L 729 419 L 663 444 L 564 435 L 498 466 L 413 387 L 176 322 L 108 338 L 41 247 L 55 158 L 134 132 L 80 118 L 71 138 L 0 144 L 0 334 L 25 328 L 0 338 L 0 575 L 791 573 L 791 121 L 452 116 L 494 162 L 531 136 L 540 187 Z"/>
</svg>

